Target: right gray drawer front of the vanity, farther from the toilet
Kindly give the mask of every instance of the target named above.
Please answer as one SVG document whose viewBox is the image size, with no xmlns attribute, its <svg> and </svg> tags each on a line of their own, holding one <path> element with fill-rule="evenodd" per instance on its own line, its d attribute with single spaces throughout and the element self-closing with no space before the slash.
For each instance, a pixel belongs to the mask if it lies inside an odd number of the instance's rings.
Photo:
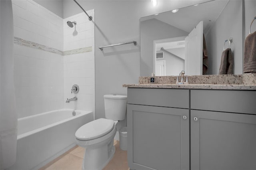
<svg viewBox="0 0 256 170">
<path fill-rule="evenodd" d="M 191 109 L 256 115 L 256 91 L 191 90 Z"/>
</svg>

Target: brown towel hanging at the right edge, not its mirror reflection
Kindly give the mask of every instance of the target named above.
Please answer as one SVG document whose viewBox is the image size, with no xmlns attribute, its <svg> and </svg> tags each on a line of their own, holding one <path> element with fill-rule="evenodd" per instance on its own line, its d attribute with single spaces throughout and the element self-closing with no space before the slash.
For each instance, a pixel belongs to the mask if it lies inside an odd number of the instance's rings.
<svg viewBox="0 0 256 170">
<path fill-rule="evenodd" d="M 256 73 L 256 32 L 249 34 L 244 42 L 244 73 Z"/>
</svg>

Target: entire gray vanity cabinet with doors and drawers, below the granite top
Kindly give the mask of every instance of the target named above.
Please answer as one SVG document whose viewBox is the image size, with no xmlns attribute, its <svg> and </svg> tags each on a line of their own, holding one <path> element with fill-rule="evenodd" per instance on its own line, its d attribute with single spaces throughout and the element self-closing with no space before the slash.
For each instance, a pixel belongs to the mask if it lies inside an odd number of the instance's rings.
<svg viewBox="0 0 256 170">
<path fill-rule="evenodd" d="M 128 88 L 135 170 L 255 170 L 256 91 Z"/>
</svg>

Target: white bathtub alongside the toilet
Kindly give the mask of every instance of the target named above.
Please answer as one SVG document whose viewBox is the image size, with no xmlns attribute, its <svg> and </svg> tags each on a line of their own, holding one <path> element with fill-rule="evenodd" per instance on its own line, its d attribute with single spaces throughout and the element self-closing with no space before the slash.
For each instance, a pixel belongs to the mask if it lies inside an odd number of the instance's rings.
<svg viewBox="0 0 256 170">
<path fill-rule="evenodd" d="M 93 121 L 90 111 L 60 109 L 18 119 L 16 163 L 8 170 L 37 170 L 76 145 L 75 132 Z"/>
</svg>

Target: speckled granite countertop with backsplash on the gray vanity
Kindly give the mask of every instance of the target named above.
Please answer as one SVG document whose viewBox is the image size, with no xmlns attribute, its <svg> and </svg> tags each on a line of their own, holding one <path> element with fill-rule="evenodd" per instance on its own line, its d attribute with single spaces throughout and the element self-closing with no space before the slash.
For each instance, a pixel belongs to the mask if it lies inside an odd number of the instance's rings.
<svg viewBox="0 0 256 170">
<path fill-rule="evenodd" d="M 178 77 L 180 81 L 180 76 Z M 176 85 L 176 79 L 177 76 L 155 76 L 155 83 L 150 83 L 150 77 L 139 77 L 139 84 L 124 84 L 123 87 L 163 89 L 256 90 L 256 73 L 246 73 L 241 75 L 189 76 L 189 84 L 182 85 Z"/>
</svg>

